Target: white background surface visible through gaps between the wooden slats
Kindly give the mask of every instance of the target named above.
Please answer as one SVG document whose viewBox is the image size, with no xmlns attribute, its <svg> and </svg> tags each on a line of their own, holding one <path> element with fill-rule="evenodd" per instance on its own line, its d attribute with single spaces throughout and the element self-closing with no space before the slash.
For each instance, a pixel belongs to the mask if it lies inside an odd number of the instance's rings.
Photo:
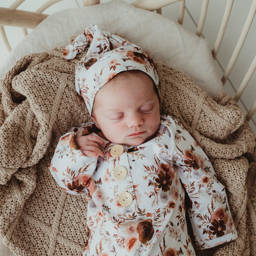
<svg viewBox="0 0 256 256">
<path fill-rule="evenodd" d="M 107 2 L 109 0 L 101 0 L 101 2 Z M 134 0 L 124 0 L 127 3 L 132 3 Z M 9 7 L 14 0 L 1 0 L 1 7 Z M 19 9 L 35 11 L 39 6 L 45 3 L 46 0 L 26 0 L 22 3 Z M 203 28 L 202 35 L 209 40 L 211 48 L 214 46 L 214 42 L 218 33 L 219 26 L 221 24 L 222 15 L 225 10 L 226 0 L 210 0 L 205 25 Z M 191 31 L 196 32 L 196 26 L 193 24 L 192 19 L 195 23 L 199 20 L 199 14 L 201 10 L 202 0 L 186 0 L 186 11 L 184 15 L 183 26 Z M 240 32 L 242 31 L 246 16 L 250 10 L 252 0 L 234 0 L 230 21 L 227 26 L 227 31 L 219 53 L 217 55 L 216 66 L 220 77 L 223 75 L 223 69 L 225 70 L 231 57 L 232 51 L 236 46 L 236 42 L 239 38 Z M 52 7 L 48 8 L 44 13 L 51 14 L 61 9 L 70 7 L 82 6 L 82 0 L 64 0 L 56 3 Z M 162 9 L 162 15 L 178 20 L 178 8 L 179 3 L 174 3 L 170 6 L 166 6 Z M 21 28 L 5 26 L 7 37 L 10 39 L 11 47 L 14 48 L 19 42 L 20 38 L 23 37 Z M 31 30 L 28 30 L 30 32 Z M 168 32 L 168 31 L 167 31 Z M 247 35 L 244 47 L 239 54 L 238 60 L 230 74 L 230 81 L 227 81 L 224 90 L 231 96 L 235 95 L 240 83 L 242 82 L 247 69 L 249 68 L 255 54 L 256 54 L 256 18 L 254 18 L 251 29 Z M 3 44 L 2 38 L 0 38 L 0 65 L 4 65 L 4 60 L 8 58 L 8 52 Z M 256 100 L 256 72 L 254 72 L 243 96 L 242 100 L 239 100 L 239 105 L 245 113 L 250 109 Z M 253 119 L 256 120 L 256 114 Z M 256 132 L 255 121 L 251 120 L 250 125 Z"/>
</svg>

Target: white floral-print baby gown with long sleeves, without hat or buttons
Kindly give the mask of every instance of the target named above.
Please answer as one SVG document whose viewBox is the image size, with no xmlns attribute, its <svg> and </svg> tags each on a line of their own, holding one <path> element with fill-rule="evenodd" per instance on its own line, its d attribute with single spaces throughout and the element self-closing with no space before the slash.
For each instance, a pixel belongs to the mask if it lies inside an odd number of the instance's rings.
<svg viewBox="0 0 256 256">
<path fill-rule="evenodd" d="M 104 157 L 83 155 L 74 138 L 95 131 L 93 122 L 73 127 L 60 138 L 49 167 L 63 190 L 87 196 L 84 255 L 195 255 L 185 209 L 199 248 L 237 238 L 225 188 L 178 120 L 162 115 L 155 138 L 123 146 L 118 157 L 106 140 L 100 145 Z M 117 166 L 127 170 L 125 179 L 114 178 Z M 133 197 L 129 206 L 118 201 L 123 191 Z"/>
</svg>

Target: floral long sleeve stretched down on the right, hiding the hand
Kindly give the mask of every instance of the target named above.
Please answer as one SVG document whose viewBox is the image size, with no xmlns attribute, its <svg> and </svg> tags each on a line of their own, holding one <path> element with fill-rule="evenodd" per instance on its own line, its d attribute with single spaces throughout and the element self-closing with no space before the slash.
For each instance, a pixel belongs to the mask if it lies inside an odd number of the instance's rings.
<svg viewBox="0 0 256 256">
<path fill-rule="evenodd" d="M 206 249 L 236 239 L 225 187 L 217 180 L 203 150 L 182 124 L 172 118 L 169 121 L 174 142 L 173 167 L 189 197 L 186 208 L 197 246 Z"/>
</svg>

